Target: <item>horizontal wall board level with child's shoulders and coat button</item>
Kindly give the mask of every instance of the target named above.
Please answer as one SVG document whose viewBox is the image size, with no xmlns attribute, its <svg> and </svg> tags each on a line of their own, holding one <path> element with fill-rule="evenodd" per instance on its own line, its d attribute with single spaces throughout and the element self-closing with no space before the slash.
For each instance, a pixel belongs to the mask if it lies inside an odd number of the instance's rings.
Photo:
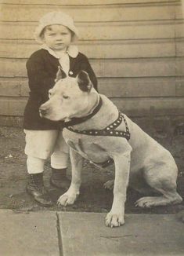
<svg viewBox="0 0 184 256">
<path fill-rule="evenodd" d="M 90 60 L 97 77 L 161 77 L 184 75 L 184 58 Z M 176 67 L 178 64 L 178 67 Z M 2 77 L 25 77 L 25 60 L 0 59 Z M 151 96 L 151 95 L 150 95 Z"/>
</svg>

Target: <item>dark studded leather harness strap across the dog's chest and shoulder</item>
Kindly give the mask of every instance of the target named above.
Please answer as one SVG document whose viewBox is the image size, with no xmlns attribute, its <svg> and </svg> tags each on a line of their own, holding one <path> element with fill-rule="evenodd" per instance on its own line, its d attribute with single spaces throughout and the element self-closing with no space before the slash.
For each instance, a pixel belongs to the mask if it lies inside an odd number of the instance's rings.
<svg viewBox="0 0 184 256">
<path fill-rule="evenodd" d="M 120 124 L 122 123 L 122 120 L 124 120 L 125 124 L 125 131 L 121 130 L 115 130 Z M 112 136 L 112 137 L 124 137 L 129 141 L 130 139 L 130 131 L 128 129 L 128 123 L 126 119 L 124 118 L 124 115 L 119 112 L 118 118 L 114 123 L 110 123 L 109 126 L 106 126 L 103 130 L 77 130 L 74 129 L 73 126 L 67 126 L 67 130 L 70 130 L 74 133 L 80 133 L 84 135 L 90 135 L 90 136 Z"/>
</svg>

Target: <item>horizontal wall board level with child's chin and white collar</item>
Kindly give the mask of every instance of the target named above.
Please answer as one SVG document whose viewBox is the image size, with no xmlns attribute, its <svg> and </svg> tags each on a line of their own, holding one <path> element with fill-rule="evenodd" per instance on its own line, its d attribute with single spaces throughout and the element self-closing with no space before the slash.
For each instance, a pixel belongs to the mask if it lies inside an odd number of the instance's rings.
<svg viewBox="0 0 184 256">
<path fill-rule="evenodd" d="M 0 39 L 2 49 L 0 55 L 4 58 L 27 59 L 31 53 L 38 49 L 32 40 Z M 178 56 L 183 56 L 183 39 L 176 44 Z M 150 58 L 175 57 L 175 38 L 142 39 L 142 40 L 104 40 L 80 41 L 78 48 L 90 59 L 124 59 L 124 58 Z"/>
</svg>

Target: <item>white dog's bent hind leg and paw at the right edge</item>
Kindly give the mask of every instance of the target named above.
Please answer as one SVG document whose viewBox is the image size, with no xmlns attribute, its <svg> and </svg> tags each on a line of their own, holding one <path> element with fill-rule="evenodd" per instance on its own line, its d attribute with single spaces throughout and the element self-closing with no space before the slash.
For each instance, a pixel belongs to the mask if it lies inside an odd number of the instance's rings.
<svg viewBox="0 0 184 256">
<path fill-rule="evenodd" d="M 168 166 L 170 167 L 170 166 Z M 161 196 L 145 196 L 135 202 L 136 207 L 158 207 L 182 202 L 182 197 L 176 192 L 176 175 L 174 171 L 165 171 L 166 166 L 146 170 L 144 177 L 151 188 L 161 193 Z M 168 168 L 169 169 L 169 168 Z M 177 170 L 177 168 L 176 168 Z"/>
</svg>

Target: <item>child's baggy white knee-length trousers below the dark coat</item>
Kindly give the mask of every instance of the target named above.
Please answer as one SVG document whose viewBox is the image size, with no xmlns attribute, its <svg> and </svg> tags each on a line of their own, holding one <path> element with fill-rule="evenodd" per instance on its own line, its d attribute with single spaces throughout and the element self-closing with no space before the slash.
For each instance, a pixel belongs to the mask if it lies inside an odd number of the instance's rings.
<svg viewBox="0 0 184 256">
<path fill-rule="evenodd" d="M 24 130 L 26 133 L 25 154 L 48 159 L 55 151 L 69 153 L 69 147 L 58 130 Z"/>
</svg>

